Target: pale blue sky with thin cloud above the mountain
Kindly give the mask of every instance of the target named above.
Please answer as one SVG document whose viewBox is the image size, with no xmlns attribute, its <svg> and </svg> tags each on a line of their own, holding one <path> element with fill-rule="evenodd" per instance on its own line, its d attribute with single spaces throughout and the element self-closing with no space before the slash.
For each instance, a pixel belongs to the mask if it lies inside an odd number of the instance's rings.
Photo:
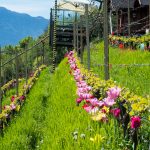
<svg viewBox="0 0 150 150">
<path fill-rule="evenodd" d="M 49 19 L 50 8 L 54 6 L 54 0 L 0 0 L 0 6 Z"/>
</svg>

